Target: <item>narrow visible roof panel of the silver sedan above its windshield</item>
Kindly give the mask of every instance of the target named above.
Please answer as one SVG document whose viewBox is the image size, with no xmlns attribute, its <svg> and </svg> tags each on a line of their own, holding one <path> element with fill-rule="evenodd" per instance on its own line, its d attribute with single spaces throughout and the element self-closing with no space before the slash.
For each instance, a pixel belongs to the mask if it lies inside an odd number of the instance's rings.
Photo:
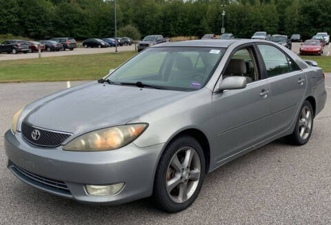
<svg viewBox="0 0 331 225">
<path fill-rule="evenodd" d="M 155 47 L 229 47 L 232 43 L 243 42 L 250 43 L 254 42 L 251 39 L 201 39 L 193 41 L 178 41 L 178 42 L 165 42 Z"/>
</svg>

